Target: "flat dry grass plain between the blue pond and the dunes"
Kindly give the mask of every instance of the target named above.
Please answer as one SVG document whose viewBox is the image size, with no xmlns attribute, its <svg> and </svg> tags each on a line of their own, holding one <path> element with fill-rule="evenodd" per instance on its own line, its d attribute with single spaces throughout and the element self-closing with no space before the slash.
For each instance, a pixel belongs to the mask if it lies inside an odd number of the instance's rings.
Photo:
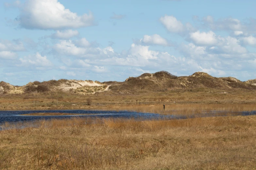
<svg viewBox="0 0 256 170">
<path fill-rule="evenodd" d="M 87 105 L 87 98 L 91 98 L 91 105 Z M 58 103 L 57 103 L 58 100 Z M 45 109 L 108 109 L 116 107 L 130 107 L 130 105 L 154 105 L 162 110 L 170 107 L 190 107 L 193 105 L 217 104 L 236 106 L 241 104 L 256 105 L 256 91 L 246 89 L 216 89 L 216 88 L 187 88 L 173 89 L 168 92 L 148 92 L 142 90 L 105 91 L 95 94 L 77 94 L 70 92 L 0 94 L 0 110 L 45 110 Z M 35 106 L 35 101 L 37 101 Z M 177 101 L 176 106 L 175 101 Z M 58 104 L 58 105 L 57 105 Z M 99 105 L 97 105 L 99 104 Z M 182 105 L 182 106 L 180 106 Z M 196 107 L 197 107 L 196 106 Z M 245 109 L 247 105 L 244 105 Z M 200 106 L 201 107 L 201 106 Z M 214 106 L 215 107 L 215 106 Z"/>
</svg>

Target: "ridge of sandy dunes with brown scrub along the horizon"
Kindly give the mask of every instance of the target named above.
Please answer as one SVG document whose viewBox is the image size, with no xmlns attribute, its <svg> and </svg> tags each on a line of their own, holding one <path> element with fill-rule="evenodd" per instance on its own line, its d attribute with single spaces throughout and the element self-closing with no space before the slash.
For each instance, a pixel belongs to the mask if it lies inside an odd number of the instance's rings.
<svg viewBox="0 0 256 170">
<path fill-rule="evenodd" d="M 86 83 L 89 83 L 86 85 Z M 256 80 L 248 80 L 242 82 L 236 78 L 225 77 L 215 78 L 207 73 L 196 72 L 191 76 L 177 77 L 167 71 L 159 71 L 154 74 L 144 73 L 138 77 L 129 77 L 124 82 L 117 81 L 92 81 L 92 80 L 50 80 L 50 81 L 35 81 L 30 82 L 25 86 L 15 87 L 6 82 L 0 82 L 0 94 L 12 94 L 12 93 L 45 93 L 45 92 L 82 92 L 82 93 L 94 93 L 99 86 L 106 88 L 106 85 L 111 85 L 110 90 L 133 92 L 134 90 L 143 90 L 147 92 L 167 92 L 173 89 L 188 89 L 188 88 L 235 88 L 235 89 L 256 89 Z M 85 86 L 93 86 L 93 90 L 90 90 Z M 99 90 L 100 92 L 100 90 Z"/>
</svg>

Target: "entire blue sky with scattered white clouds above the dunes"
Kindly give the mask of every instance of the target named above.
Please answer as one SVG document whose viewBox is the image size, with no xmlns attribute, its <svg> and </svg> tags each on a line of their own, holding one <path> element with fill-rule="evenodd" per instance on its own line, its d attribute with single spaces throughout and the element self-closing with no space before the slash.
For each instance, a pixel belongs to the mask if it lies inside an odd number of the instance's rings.
<svg viewBox="0 0 256 170">
<path fill-rule="evenodd" d="M 256 78 L 254 0 L 0 0 L 0 81 Z"/>
</svg>

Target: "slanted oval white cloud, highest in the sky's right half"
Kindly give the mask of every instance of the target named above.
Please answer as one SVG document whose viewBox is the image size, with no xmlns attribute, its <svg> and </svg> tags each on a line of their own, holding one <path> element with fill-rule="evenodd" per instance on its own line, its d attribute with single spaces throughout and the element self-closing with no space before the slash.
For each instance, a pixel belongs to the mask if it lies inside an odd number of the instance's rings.
<svg viewBox="0 0 256 170">
<path fill-rule="evenodd" d="M 183 24 L 178 21 L 174 16 L 165 15 L 164 17 L 160 18 L 160 21 L 170 32 L 179 33 L 184 30 Z"/>
</svg>

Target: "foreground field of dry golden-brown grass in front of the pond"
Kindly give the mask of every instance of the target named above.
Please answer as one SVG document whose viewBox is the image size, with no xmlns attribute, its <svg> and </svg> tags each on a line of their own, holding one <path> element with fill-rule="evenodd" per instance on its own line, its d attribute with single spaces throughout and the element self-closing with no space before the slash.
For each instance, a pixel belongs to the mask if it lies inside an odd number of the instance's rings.
<svg viewBox="0 0 256 170">
<path fill-rule="evenodd" d="M 256 116 L 39 125 L 0 131 L 0 169 L 256 169 Z"/>
</svg>

